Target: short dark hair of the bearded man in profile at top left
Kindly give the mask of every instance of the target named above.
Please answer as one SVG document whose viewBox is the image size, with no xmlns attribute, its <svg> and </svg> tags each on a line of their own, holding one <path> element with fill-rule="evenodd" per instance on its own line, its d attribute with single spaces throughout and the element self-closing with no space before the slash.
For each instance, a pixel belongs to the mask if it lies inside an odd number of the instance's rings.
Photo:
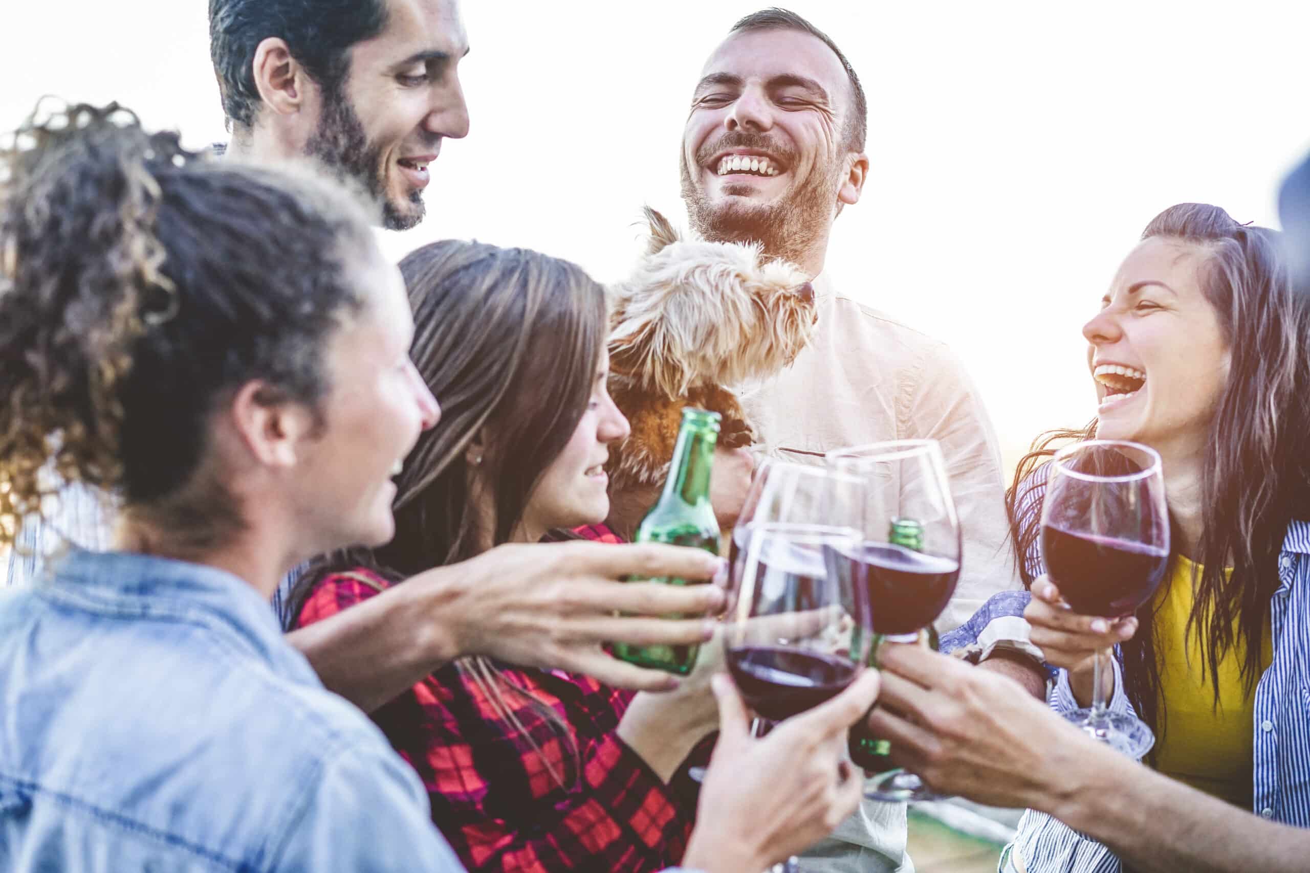
<svg viewBox="0 0 1310 873">
<path fill-rule="evenodd" d="M 328 93 L 350 76 L 350 47 L 386 26 L 386 0 L 210 0 L 210 58 L 229 124 L 250 127 L 259 107 L 254 52 L 271 37 Z"/>
</svg>

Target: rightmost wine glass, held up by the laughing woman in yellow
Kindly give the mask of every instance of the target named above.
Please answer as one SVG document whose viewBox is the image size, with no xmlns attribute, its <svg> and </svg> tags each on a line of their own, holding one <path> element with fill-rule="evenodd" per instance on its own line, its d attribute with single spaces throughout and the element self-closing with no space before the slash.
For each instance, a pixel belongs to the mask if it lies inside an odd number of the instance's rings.
<svg viewBox="0 0 1310 873">
<path fill-rule="evenodd" d="M 1073 611 L 1119 619 L 1150 601 L 1169 567 L 1169 508 L 1159 454 L 1136 442 L 1087 440 L 1051 461 L 1041 505 L 1047 575 Z M 1155 743 L 1138 719 L 1110 712 L 1093 660 L 1091 705 L 1065 717 L 1096 739 L 1141 758 Z"/>
</svg>

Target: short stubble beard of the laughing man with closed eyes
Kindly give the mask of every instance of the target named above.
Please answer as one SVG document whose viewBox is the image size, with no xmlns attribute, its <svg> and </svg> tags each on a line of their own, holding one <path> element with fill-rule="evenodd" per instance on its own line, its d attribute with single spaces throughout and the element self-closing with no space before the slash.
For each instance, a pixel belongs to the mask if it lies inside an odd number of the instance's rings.
<svg viewBox="0 0 1310 873">
<path fill-rule="evenodd" d="M 706 240 L 758 242 L 766 255 L 803 263 L 815 243 L 828 233 L 837 202 L 836 168 L 817 173 L 819 185 L 794 183 L 793 190 L 776 203 L 757 204 L 747 198 L 731 198 L 715 207 L 705 190 L 697 187 L 685 151 L 679 164 L 688 219 L 692 229 Z M 732 188 L 724 191 L 731 194 Z"/>
</svg>

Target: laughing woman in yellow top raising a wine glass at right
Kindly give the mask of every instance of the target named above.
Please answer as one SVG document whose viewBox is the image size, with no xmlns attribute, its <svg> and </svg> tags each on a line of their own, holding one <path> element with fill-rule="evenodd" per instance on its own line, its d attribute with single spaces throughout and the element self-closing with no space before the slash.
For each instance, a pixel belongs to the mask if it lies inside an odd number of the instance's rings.
<svg viewBox="0 0 1310 873">
<path fill-rule="evenodd" d="M 1083 327 L 1096 419 L 1039 438 L 1007 495 L 1031 640 L 1061 668 L 1053 705 L 1087 705 L 1094 652 L 1117 647 L 1102 675 L 1111 709 L 1154 730 L 1146 763 L 1246 809 L 1279 550 L 1310 517 L 1310 364 L 1292 294 L 1281 234 L 1205 204 L 1158 215 Z M 1159 453 L 1172 526 L 1166 581 L 1117 622 L 1073 614 L 1041 575 L 1045 462 L 1091 437 Z"/>
</svg>

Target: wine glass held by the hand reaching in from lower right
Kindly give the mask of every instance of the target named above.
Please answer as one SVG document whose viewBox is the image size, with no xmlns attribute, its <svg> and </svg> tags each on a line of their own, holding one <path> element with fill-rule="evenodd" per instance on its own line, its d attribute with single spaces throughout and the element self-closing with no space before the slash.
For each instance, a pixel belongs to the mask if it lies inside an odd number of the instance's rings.
<svg viewBox="0 0 1310 873">
<path fill-rule="evenodd" d="M 827 461 L 866 486 L 863 537 L 842 555 L 842 564 L 867 599 L 874 652 L 879 643 L 917 644 L 960 577 L 960 522 L 941 446 L 935 440 L 874 442 L 829 453 Z M 863 722 L 852 728 L 849 751 L 852 762 L 878 772 L 866 797 L 938 797 L 914 774 L 888 768 L 891 743 L 870 734 Z"/>
</svg>

